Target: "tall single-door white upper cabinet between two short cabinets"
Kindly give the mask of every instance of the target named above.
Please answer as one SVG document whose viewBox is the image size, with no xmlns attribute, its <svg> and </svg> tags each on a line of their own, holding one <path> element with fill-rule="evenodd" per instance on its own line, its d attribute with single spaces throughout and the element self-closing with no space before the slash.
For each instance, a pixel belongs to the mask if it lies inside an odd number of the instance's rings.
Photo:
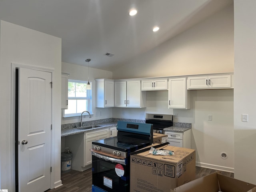
<svg viewBox="0 0 256 192">
<path fill-rule="evenodd" d="M 190 90 L 186 88 L 186 78 L 170 78 L 168 108 L 190 109 Z"/>
</svg>

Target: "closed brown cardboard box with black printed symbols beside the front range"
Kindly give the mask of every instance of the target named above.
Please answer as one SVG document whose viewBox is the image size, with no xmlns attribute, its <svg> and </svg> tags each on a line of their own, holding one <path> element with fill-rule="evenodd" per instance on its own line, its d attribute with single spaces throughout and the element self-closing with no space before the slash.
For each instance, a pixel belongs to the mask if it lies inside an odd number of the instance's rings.
<svg viewBox="0 0 256 192">
<path fill-rule="evenodd" d="M 149 150 L 130 158 L 130 192 L 170 192 L 196 178 L 195 150 L 163 146 L 174 155 L 153 155 Z"/>
</svg>

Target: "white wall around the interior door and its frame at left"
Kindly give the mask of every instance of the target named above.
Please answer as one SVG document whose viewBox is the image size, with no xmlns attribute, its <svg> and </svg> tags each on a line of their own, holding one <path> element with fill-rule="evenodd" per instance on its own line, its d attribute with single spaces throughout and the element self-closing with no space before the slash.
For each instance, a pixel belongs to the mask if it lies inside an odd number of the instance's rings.
<svg viewBox="0 0 256 192">
<path fill-rule="evenodd" d="M 11 122 L 11 63 L 53 68 L 53 147 L 52 186 L 60 180 L 60 96 L 61 39 L 22 26 L 0 21 L 0 178 L 1 188 L 14 192 L 14 131 Z M 11 148 L 13 146 L 13 148 Z"/>
</svg>

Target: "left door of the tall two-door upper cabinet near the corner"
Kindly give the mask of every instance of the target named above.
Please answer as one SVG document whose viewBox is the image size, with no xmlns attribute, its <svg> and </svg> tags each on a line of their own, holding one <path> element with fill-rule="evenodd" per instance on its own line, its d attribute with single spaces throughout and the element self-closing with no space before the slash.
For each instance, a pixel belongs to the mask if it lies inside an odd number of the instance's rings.
<svg viewBox="0 0 256 192">
<path fill-rule="evenodd" d="M 114 106 L 126 107 L 126 81 L 114 82 Z"/>
</svg>

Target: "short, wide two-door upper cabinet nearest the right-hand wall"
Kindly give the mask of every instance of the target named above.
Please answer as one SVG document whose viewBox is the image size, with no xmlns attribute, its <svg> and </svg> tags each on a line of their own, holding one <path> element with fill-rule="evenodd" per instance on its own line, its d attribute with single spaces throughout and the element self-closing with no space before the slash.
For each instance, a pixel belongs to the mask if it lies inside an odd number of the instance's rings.
<svg viewBox="0 0 256 192">
<path fill-rule="evenodd" d="M 188 77 L 188 89 L 232 88 L 233 75 L 212 75 Z"/>
</svg>

